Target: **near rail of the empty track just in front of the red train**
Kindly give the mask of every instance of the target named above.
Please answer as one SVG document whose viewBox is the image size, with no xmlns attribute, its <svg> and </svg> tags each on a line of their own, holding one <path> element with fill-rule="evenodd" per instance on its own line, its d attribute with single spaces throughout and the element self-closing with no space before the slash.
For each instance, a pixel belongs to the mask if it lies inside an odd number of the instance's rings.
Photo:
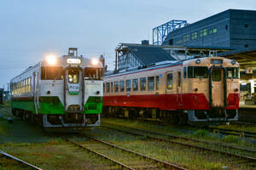
<svg viewBox="0 0 256 170">
<path fill-rule="evenodd" d="M 130 131 L 125 131 L 123 129 L 117 129 L 117 128 L 113 128 L 113 127 L 106 127 L 106 126 L 101 126 L 101 127 L 105 127 L 105 128 L 108 128 L 108 129 L 116 130 L 116 131 L 119 131 L 119 132 L 122 132 L 122 133 L 130 133 L 132 135 L 144 136 L 147 139 L 154 139 L 154 140 L 158 140 L 158 141 L 162 141 L 162 142 L 167 142 L 167 143 L 171 143 L 171 144 L 180 144 L 180 145 L 183 145 L 183 146 L 187 146 L 189 148 L 195 148 L 197 150 L 207 150 L 207 151 L 212 151 L 212 152 L 218 152 L 220 154 L 224 154 L 224 155 L 227 155 L 227 156 L 236 156 L 238 158 L 242 158 L 242 159 L 246 159 L 248 161 L 256 162 L 256 158 L 250 157 L 250 156 L 241 156 L 241 155 L 238 155 L 238 154 L 231 154 L 231 153 L 225 152 L 223 150 L 214 150 L 214 149 L 209 149 L 209 148 L 205 148 L 205 147 L 201 147 L 201 146 L 195 146 L 194 144 L 185 144 L 185 143 L 182 143 L 182 142 L 172 141 L 170 139 L 156 138 L 156 137 L 152 137 L 152 136 L 149 136 L 147 134 L 142 134 L 142 133 L 132 133 Z M 126 127 L 126 128 L 129 128 L 129 127 Z"/>
</svg>

